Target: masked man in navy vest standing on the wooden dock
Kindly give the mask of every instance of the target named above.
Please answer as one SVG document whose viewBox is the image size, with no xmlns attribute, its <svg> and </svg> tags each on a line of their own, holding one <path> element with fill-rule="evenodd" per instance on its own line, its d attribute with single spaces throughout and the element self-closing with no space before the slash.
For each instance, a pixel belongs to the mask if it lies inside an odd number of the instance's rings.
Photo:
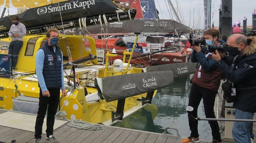
<svg viewBox="0 0 256 143">
<path fill-rule="evenodd" d="M 40 143 L 42 138 L 43 119 L 45 118 L 47 107 L 45 141 L 47 143 L 59 143 L 53 136 L 53 125 L 60 99 L 60 89 L 62 89 L 62 96 L 66 96 L 62 65 L 63 54 L 60 47 L 57 46 L 59 41 L 58 30 L 49 29 L 46 37 L 48 42 L 37 51 L 36 55 L 36 72 L 40 93 L 34 143 Z"/>
</svg>

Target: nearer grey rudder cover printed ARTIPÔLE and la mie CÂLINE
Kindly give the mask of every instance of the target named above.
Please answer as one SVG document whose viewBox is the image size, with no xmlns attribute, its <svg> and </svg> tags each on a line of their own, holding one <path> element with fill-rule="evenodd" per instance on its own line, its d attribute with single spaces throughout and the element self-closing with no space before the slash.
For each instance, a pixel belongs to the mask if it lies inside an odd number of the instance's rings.
<svg viewBox="0 0 256 143">
<path fill-rule="evenodd" d="M 110 102 L 151 92 L 172 83 L 173 74 L 170 71 L 110 76 L 102 78 L 102 94 L 106 102 Z"/>
</svg>

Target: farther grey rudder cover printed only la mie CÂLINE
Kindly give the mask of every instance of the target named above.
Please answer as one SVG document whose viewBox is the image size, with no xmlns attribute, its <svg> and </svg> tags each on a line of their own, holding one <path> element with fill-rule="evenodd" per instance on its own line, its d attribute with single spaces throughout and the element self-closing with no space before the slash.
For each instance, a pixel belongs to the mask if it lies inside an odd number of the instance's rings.
<svg viewBox="0 0 256 143">
<path fill-rule="evenodd" d="M 172 71 L 173 77 L 178 78 L 185 75 L 190 75 L 196 72 L 197 63 L 185 62 L 185 63 L 170 63 L 165 65 L 155 65 L 146 67 L 147 72 L 156 71 Z"/>
</svg>

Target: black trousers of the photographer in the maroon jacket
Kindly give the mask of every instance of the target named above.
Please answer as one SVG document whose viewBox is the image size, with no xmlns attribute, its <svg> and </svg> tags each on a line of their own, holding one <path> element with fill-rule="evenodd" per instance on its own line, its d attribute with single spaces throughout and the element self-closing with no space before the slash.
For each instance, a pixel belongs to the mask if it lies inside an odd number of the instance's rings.
<svg viewBox="0 0 256 143">
<path fill-rule="evenodd" d="M 197 109 L 202 98 L 203 98 L 204 113 L 206 115 L 206 118 L 216 118 L 213 110 L 216 94 L 217 94 L 217 91 L 213 91 L 207 88 L 202 88 L 198 85 L 192 84 L 190 89 L 190 97 L 188 101 L 188 106 L 191 106 L 194 108 L 193 111 L 188 111 L 188 122 L 190 125 L 191 136 L 198 137 L 198 121 L 191 118 L 191 115 L 193 115 L 193 117 L 198 117 Z M 211 127 L 211 134 L 213 136 L 213 139 L 221 141 L 218 122 L 217 121 L 208 121 L 208 122 Z"/>
</svg>

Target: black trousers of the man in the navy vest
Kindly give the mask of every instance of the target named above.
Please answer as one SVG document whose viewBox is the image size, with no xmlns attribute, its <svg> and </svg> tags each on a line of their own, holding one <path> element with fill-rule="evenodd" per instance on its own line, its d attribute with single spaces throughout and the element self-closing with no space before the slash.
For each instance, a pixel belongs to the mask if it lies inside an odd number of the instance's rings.
<svg viewBox="0 0 256 143">
<path fill-rule="evenodd" d="M 58 103 L 60 100 L 60 88 L 48 89 L 50 97 L 43 96 L 42 90 L 40 88 L 39 93 L 39 107 L 37 112 L 37 120 L 35 123 L 35 138 L 42 138 L 42 127 L 43 119 L 45 118 L 45 113 L 47 110 L 47 121 L 46 121 L 46 135 L 53 135 L 53 125 L 55 120 L 55 114 L 58 109 Z"/>
</svg>

